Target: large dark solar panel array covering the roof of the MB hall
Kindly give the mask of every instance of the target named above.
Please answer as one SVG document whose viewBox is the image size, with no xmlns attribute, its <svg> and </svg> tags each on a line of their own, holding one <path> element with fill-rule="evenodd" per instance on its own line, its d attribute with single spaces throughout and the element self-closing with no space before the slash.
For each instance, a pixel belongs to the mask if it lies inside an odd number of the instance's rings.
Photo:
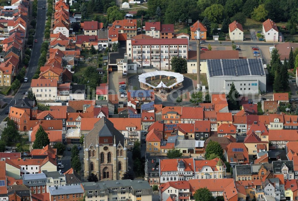
<svg viewBox="0 0 298 201">
<path fill-rule="evenodd" d="M 261 59 L 207 59 L 209 76 L 264 76 Z"/>
</svg>

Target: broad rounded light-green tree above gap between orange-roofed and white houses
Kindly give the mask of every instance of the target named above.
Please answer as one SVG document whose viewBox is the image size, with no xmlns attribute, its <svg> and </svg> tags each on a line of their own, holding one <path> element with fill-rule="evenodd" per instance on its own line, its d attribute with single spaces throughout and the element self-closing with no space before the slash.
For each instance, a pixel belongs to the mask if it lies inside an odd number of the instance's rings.
<svg viewBox="0 0 298 201">
<path fill-rule="evenodd" d="M 220 4 L 213 4 L 207 7 L 203 12 L 204 17 L 207 17 L 209 21 L 219 23 L 225 15 L 224 7 Z"/>
</svg>

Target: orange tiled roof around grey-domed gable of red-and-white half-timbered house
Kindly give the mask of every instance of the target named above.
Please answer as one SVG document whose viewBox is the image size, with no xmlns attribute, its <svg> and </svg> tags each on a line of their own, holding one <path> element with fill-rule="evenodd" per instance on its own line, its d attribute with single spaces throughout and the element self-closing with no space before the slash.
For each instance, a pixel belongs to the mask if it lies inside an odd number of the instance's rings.
<svg viewBox="0 0 298 201">
<path fill-rule="evenodd" d="M 177 171 L 177 166 L 179 161 L 182 161 L 184 163 L 184 166 L 185 166 L 184 171 L 194 172 L 193 158 L 160 159 L 160 172 Z"/>
</svg>

